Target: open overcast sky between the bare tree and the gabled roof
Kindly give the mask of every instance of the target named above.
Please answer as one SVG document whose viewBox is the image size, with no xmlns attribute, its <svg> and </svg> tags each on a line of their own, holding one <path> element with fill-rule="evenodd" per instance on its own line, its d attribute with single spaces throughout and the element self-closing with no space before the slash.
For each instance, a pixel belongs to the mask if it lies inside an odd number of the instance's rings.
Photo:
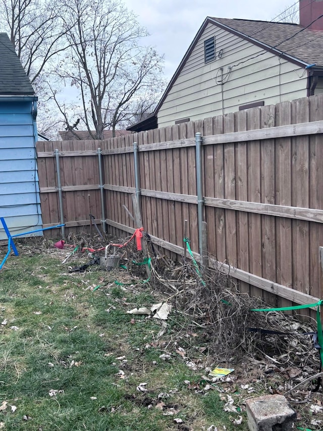
<svg viewBox="0 0 323 431">
<path fill-rule="evenodd" d="M 171 78 L 207 16 L 271 21 L 296 0 L 124 0 L 149 31 L 148 43 L 165 54 Z M 277 19 L 279 20 L 279 18 Z"/>
</svg>

